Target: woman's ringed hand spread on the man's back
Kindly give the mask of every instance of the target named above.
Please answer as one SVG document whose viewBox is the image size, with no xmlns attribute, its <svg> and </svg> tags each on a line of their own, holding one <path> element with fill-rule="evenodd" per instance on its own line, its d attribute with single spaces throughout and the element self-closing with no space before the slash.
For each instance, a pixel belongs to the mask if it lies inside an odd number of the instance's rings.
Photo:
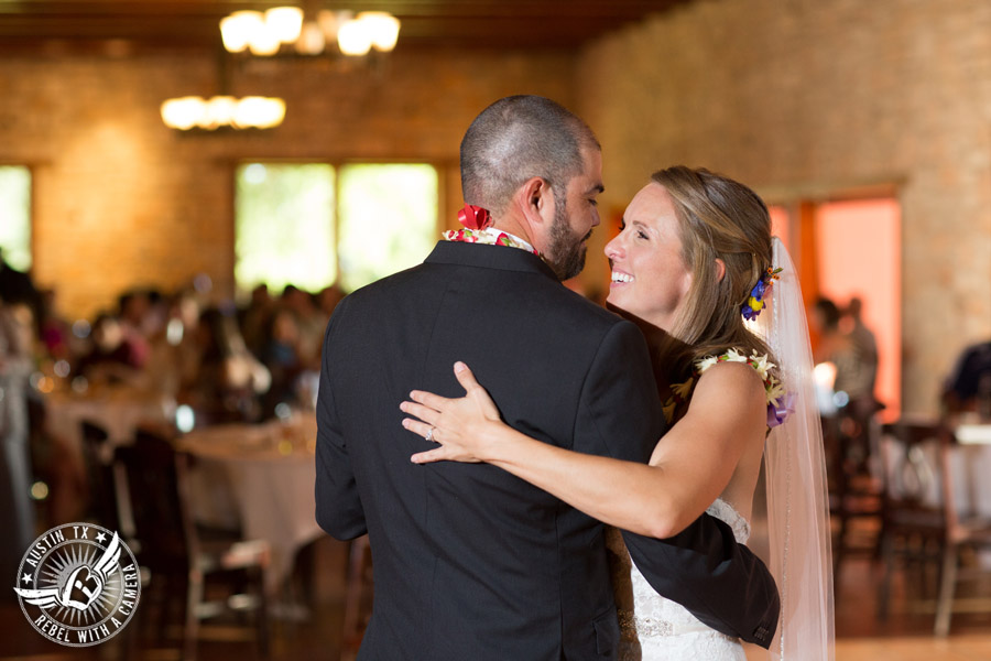
<svg viewBox="0 0 991 661">
<path fill-rule="evenodd" d="M 486 451 L 497 442 L 496 434 L 504 424 L 499 410 L 486 389 L 464 362 L 455 362 L 455 377 L 465 389 L 465 397 L 448 399 L 414 390 L 400 409 L 414 418 L 403 420 L 403 426 L 439 445 L 435 449 L 413 455 L 414 464 L 432 462 L 484 462 Z"/>
</svg>

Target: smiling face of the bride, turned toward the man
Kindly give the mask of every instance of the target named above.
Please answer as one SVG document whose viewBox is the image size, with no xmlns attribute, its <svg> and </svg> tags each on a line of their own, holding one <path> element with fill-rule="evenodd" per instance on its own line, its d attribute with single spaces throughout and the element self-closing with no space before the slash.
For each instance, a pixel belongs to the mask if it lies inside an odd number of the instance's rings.
<svg viewBox="0 0 991 661">
<path fill-rule="evenodd" d="M 678 218 L 664 186 L 650 183 L 633 197 L 606 257 L 612 267 L 608 302 L 671 330 L 691 273 L 682 259 Z"/>
</svg>

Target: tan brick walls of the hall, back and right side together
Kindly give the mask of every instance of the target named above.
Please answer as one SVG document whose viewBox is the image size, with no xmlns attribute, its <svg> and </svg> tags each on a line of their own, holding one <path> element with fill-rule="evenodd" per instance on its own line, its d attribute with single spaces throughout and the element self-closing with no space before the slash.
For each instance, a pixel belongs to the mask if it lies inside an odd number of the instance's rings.
<svg viewBox="0 0 991 661">
<path fill-rule="evenodd" d="M 676 162 L 769 197 L 891 183 L 904 404 L 933 411 L 959 349 L 991 335 L 988 35 L 987 0 L 699 0 L 585 47 L 577 67 L 570 54 L 402 47 L 373 69 L 236 64 L 229 91 L 282 96 L 288 111 L 273 131 L 222 136 L 159 118 L 164 98 L 220 91 L 213 54 L 0 56 L 0 162 L 34 167 L 36 275 L 72 315 L 199 271 L 229 293 L 241 159 L 431 160 L 448 223 L 460 137 L 507 94 L 544 94 L 589 121 L 607 214 Z M 607 234 L 590 247 L 588 283 L 605 279 Z"/>
</svg>

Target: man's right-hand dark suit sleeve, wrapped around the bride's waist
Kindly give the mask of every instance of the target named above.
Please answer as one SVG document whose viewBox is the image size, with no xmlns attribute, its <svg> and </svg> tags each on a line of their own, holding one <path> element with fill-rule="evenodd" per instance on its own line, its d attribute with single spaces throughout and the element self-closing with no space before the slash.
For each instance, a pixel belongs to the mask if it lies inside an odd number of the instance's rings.
<svg viewBox="0 0 991 661">
<path fill-rule="evenodd" d="M 582 388 L 575 449 L 646 462 L 664 432 L 646 346 L 629 322 L 599 347 Z M 781 608 L 767 567 L 738 544 L 722 521 L 703 514 L 666 540 L 623 532 L 636 567 L 658 594 L 707 626 L 763 647 L 771 644 Z"/>
</svg>

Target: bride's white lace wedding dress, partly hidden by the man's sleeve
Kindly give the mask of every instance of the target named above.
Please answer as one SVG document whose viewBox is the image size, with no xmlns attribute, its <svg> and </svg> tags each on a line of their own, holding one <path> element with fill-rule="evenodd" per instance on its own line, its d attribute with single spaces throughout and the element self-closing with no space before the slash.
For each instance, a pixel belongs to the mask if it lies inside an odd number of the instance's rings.
<svg viewBox="0 0 991 661">
<path fill-rule="evenodd" d="M 750 539 L 750 523 L 725 500 L 717 499 L 706 511 L 728 523 L 737 542 Z M 613 555 L 621 633 L 617 661 L 747 661 L 739 639 L 710 629 L 654 592 L 631 562 L 618 530 L 608 529 L 607 545 Z"/>
</svg>

